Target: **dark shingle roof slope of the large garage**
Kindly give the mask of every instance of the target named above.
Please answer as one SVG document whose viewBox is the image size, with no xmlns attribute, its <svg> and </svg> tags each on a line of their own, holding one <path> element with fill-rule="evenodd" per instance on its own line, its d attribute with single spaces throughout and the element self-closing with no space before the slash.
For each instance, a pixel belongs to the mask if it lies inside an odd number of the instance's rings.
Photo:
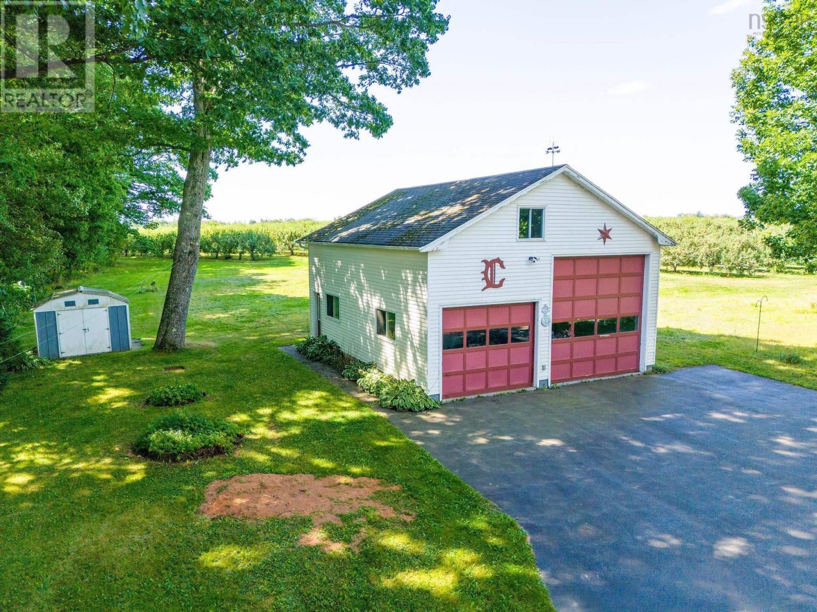
<svg viewBox="0 0 817 612">
<path fill-rule="evenodd" d="M 420 248 L 561 167 L 395 189 L 301 240 Z"/>
</svg>

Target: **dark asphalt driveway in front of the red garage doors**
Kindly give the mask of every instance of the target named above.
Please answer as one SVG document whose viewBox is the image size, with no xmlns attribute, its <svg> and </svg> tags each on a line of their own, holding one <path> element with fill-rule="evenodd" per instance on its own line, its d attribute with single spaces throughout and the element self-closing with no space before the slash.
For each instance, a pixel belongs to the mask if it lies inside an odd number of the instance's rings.
<svg viewBox="0 0 817 612">
<path fill-rule="evenodd" d="M 817 392 L 716 366 L 384 414 L 520 522 L 561 612 L 817 610 Z"/>
</svg>

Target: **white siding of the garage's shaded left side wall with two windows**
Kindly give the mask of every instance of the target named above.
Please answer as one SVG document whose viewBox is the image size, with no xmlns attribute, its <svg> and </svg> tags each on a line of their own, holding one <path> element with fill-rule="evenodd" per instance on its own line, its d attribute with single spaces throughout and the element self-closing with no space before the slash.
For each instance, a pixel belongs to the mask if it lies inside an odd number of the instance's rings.
<svg viewBox="0 0 817 612">
<path fill-rule="evenodd" d="M 321 308 L 321 332 L 345 353 L 425 386 L 426 254 L 311 242 L 309 259 L 310 333 Z M 338 296 L 339 320 L 327 317 L 326 295 Z M 377 335 L 377 309 L 395 313 L 395 339 Z"/>
</svg>

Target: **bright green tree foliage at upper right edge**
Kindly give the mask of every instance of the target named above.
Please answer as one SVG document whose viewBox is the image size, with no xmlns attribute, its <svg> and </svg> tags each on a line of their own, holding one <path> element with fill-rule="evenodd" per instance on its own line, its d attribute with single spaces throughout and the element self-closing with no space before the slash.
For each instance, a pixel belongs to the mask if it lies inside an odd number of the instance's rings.
<svg viewBox="0 0 817 612">
<path fill-rule="evenodd" d="M 766 2 L 766 28 L 732 75 L 739 150 L 755 166 L 739 192 L 748 220 L 788 224 L 770 237 L 781 256 L 817 268 L 817 4 Z"/>
</svg>

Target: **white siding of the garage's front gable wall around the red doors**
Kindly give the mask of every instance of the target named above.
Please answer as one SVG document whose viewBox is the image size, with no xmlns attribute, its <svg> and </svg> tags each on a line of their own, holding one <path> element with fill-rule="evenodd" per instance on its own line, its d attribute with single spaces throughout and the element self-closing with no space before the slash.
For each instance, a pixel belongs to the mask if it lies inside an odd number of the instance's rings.
<svg viewBox="0 0 817 612">
<path fill-rule="evenodd" d="M 520 240 L 519 209 L 545 209 L 544 240 Z M 598 229 L 612 228 L 611 240 L 598 240 Z M 642 313 L 641 368 L 655 361 L 655 325 L 658 310 L 660 250 L 655 238 L 600 202 L 565 176 L 556 176 L 525 195 L 508 202 L 451 238 L 428 257 L 428 391 L 440 392 L 440 317 L 442 308 L 480 304 L 536 302 L 538 357 L 534 380 L 550 377 L 550 319 L 552 261 L 554 257 L 593 255 L 646 255 L 645 310 Z M 498 257 L 499 289 L 483 290 L 483 259 Z M 529 257 L 537 257 L 535 263 Z M 545 308 L 547 307 L 547 308 Z M 543 311 L 547 311 L 547 313 Z M 544 367 L 543 367 L 544 366 Z"/>
</svg>

